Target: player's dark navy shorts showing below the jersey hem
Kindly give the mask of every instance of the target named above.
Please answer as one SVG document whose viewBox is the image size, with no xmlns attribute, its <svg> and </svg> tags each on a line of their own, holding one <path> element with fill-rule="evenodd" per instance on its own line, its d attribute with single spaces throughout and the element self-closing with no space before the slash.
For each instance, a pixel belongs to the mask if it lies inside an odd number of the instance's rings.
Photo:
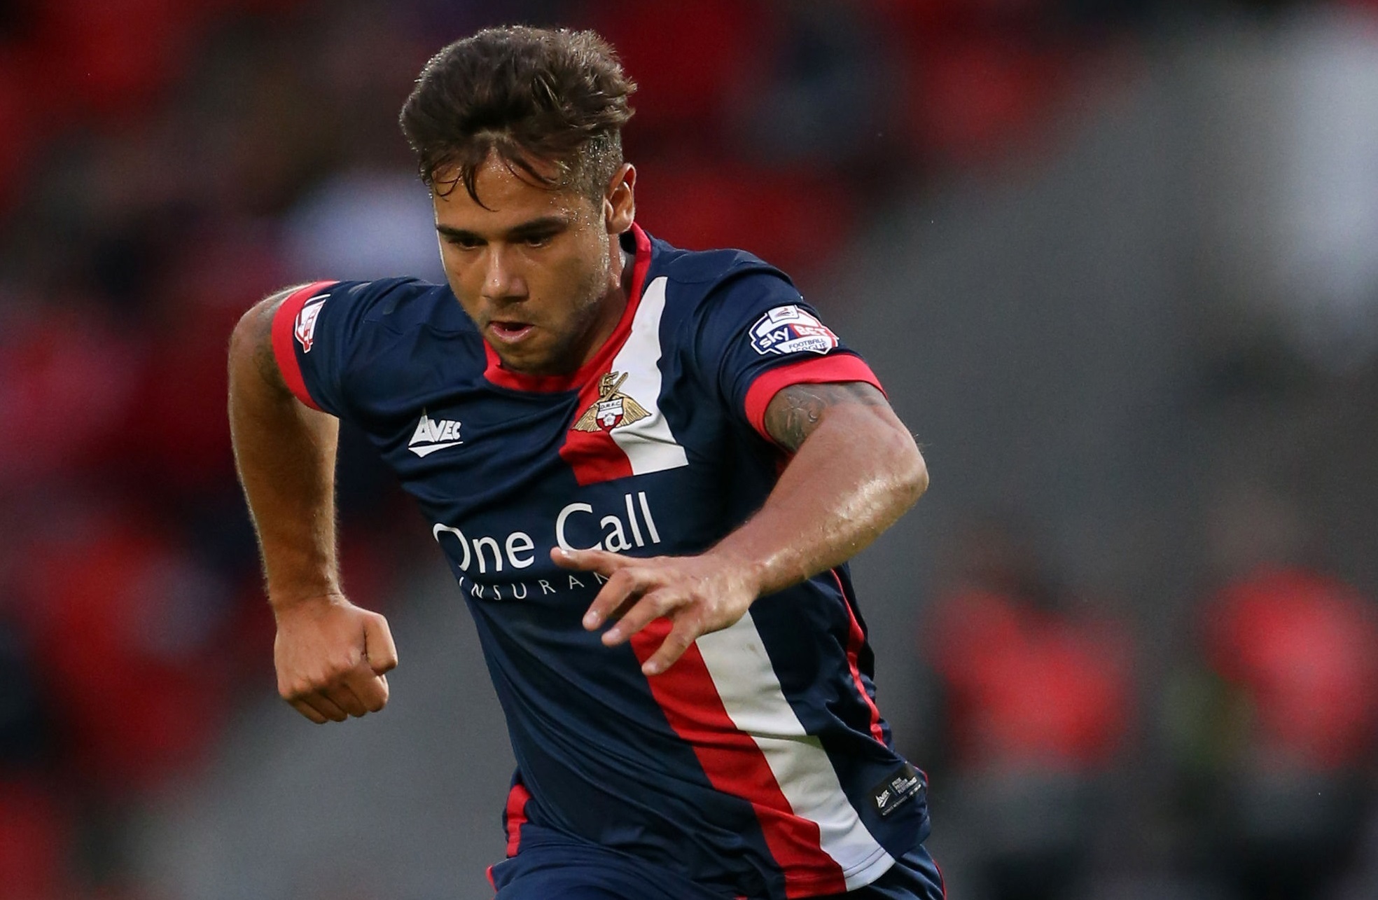
<svg viewBox="0 0 1378 900">
<path fill-rule="evenodd" d="M 725 900 L 659 866 L 602 848 L 522 846 L 489 870 L 497 900 Z M 817 900 L 943 900 L 943 874 L 922 846 L 849 893 Z"/>
</svg>

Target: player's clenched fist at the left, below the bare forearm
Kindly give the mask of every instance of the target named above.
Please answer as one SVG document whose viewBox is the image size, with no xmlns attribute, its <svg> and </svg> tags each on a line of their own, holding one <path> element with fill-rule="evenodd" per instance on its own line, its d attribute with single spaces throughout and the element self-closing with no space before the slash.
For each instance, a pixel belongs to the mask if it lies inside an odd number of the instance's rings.
<svg viewBox="0 0 1378 900">
<path fill-rule="evenodd" d="M 383 708 L 386 673 L 397 666 L 387 619 L 339 594 L 274 606 L 273 612 L 277 692 L 298 713 L 324 725 Z"/>
</svg>

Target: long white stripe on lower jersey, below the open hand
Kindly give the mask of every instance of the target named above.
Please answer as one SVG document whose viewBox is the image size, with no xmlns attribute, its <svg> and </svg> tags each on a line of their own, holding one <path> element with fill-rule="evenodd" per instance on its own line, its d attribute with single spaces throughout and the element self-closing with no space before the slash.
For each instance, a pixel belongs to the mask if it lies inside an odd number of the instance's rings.
<svg viewBox="0 0 1378 900">
<path fill-rule="evenodd" d="M 733 725 L 757 742 L 794 815 L 817 823 L 823 850 L 842 868 L 847 890 L 879 878 L 894 857 L 857 816 L 823 744 L 803 730 L 751 613 L 697 645 Z"/>
</svg>

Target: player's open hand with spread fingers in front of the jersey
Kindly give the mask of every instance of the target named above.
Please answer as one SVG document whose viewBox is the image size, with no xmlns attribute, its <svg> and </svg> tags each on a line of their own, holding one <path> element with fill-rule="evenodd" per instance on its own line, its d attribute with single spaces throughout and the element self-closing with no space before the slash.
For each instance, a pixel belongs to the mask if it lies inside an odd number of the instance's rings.
<svg viewBox="0 0 1378 900">
<path fill-rule="evenodd" d="M 597 572 L 608 579 L 584 613 L 584 628 L 604 631 L 602 642 L 627 641 L 656 619 L 668 619 L 670 634 L 641 671 L 656 675 L 670 668 L 700 634 L 736 623 L 759 594 L 752 566 L 710 554 L 697 557 L 624 557 L 606 550 L 550 551 L 566 569 Z"/>
</svg>

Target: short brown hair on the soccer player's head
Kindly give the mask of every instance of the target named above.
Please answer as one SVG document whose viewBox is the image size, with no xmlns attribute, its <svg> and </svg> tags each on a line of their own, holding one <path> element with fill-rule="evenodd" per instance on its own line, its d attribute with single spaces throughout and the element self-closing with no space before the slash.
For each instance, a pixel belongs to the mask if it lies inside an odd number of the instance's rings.
<svg viewBox="0 0 1378 900">
<path fill-rule="evenodd" d="M 617 52 L 594 32 L 513 25 L 431 57 L 400 119 L 431 190 L 437 172 L 453 165 L 482 205 L 474 179 L 496 153 L 514 174 L 597 201 L 621 165 L 621 127 L 635 90 Z M 555 174 L 539 171 L 542 161 Z"/>
</svg>

